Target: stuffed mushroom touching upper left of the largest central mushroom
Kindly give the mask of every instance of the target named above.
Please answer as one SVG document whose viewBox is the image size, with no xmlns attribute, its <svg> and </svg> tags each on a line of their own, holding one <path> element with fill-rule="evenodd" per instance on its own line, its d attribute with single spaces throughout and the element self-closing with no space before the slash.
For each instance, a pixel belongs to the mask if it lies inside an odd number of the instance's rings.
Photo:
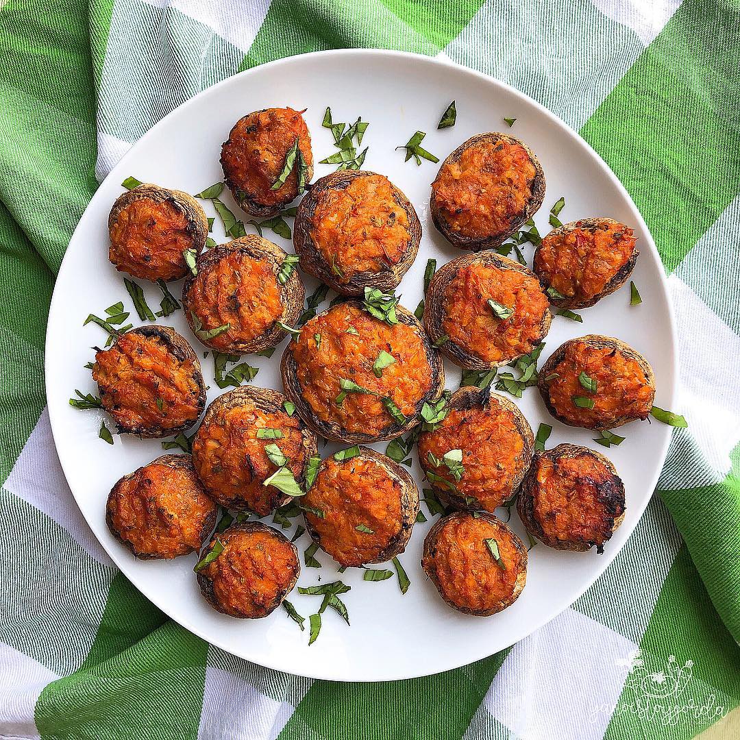
<svg viewBox="0 0 740 740">
<path fill-rule="evenodd" d="M 295 255 L 256 234 L 209 249 L 196 267 L 183 286 L 183 306 L 206 347 L 229 354 L 274 347 L 287 333 L 277 322 L 292 326 L 303 311 Z"/>
</svg>

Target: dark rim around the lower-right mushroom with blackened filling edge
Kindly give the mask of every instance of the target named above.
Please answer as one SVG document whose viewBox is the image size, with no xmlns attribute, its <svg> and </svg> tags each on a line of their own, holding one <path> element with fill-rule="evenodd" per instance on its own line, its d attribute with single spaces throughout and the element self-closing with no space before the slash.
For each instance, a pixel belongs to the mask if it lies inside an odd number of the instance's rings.
<svg viewBox="0 0 740 740">
<path fill-rule="evenodd" d="M 596 545 L 596 552 L 601 555 L 604 552 L 603 543 L 599 544 L 598 542 L 589 542 L 583 539 L 550 539 L 548 536 L 545 536 L 534 514 L 534 492 L 539 485 L 537 483 L 536 473 L 537 461 L 541 457 L 547 457 L 556 465 L 558 460 L 569 457 L 580 457 L 581 455 L 590 455 L 595 458 L 610 473 L 610 476 L 604 482 L 594 482 L 596 485 L 596 497 L 604 505 L 604 517 L 607 524 L 605 529 L 609 532 L 607 536 L 607 540 L 609 540 L 625 519 L 625 486 L 622 483 L 622 479 L 616 474 L 616 468 L 612 465 L 612 462 L 599 452 L 596 452 L 596 450 L 591 450 L 588 447 L 562 444 L 557 445 L 557 447 L 551 450 L 536 452 L 531 468 L 529 468 L 522 482 L 522 490 L 519 492 L 519 498 L 517 499 L 517 511 L 519 512 L 519 519 L 522 519 L 522 524 L 529 534 L 539 539 L 543 545 L 547 545 L 555 550 L 572 550 L 577 552 L 591 550 Z"/>
</svg>

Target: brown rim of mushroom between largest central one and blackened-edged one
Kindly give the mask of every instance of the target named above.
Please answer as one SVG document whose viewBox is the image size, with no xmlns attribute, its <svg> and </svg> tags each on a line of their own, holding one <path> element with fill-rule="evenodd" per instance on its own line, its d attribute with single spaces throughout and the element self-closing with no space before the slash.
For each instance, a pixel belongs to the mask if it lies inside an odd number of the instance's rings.
<svg viewBox="0 0 740 740">
<path fill-rule="evenodd" d="M 522 437 L 522 471 L 514 477 L 511 484 L 511 498 L 514 498 L 519 485 L 522 482 L 529 463 L 532 459 L 534 452 L 534 434 L 528 421 L 525 419 L 524 414 L 519 411 L 514 401 L 502 396 L 498 393 L 491 393 L 491 386 L 487 388 L 476 388 L 475 386 L 463 386 L 455 391 L 449 400 L 448 408 L 456 409 L 457 411 L 468 411 L 471 408 L 480 408 L 482 411 L 490 411 L 491 403 L 497 403 L 505 411 L 511 411 L 514 414 L 514 426 L 517 428 L 517 434 Z M 419 460 L 422 470 L 425 471 L 427 465 Z M 445 507 L 451 507 L 462 511 L 482 511 L 482 506 L 477 501 L 471 501 L 471 497 L 461 496 L 460 494 L 450 491 L 448 488 L 440 486 L 436 482 L 429 482 L 431 488 L 434 488 L 434 492 L 437 494 L 437 499 Z M 510 499 L 511 500 L 511 499 Z"/>
</svg>

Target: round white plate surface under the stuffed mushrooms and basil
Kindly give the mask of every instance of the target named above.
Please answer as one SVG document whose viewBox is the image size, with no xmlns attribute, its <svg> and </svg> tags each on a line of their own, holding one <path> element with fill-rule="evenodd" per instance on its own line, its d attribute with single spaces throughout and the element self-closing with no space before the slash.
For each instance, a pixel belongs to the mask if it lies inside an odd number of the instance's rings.
<svg viewBox="0 0 740 740">
<path fill-rule="evenodd" d="M 437 121 L 452 98 L 457 100 L 457 124 L 437 131 Z M 593 433 L 556 423 L 545 411 L 536 389 L 525 391 L 517 403 L 535 431 L 540 422 L 554 427 L 550 445 L 568 441 L 596 446 L 613 460 L 625 482 L 627 516 L 601 556 L 595 551 L 558 552 L 537 545 L 530 554 L 522 596 L 511 608 L 485 619 L 448 608 L 425 577 L 419 560 L 429 524 L 416 525 L 406 553 L 400 557 L 411 578 L 411 588 L 405 596 L 401 595 L 395 577 L 383 582 L 363 582 L 360 570 L 338 574 L 336 563 L 321 552 L 317 558 L 323 568 L 303 568 L 300 585 L 341 578 L 352 586 L 351 592 L 343 596 L 351 627 L 337 614 L 326 613 L 320 636 L 311 647 L 308 630 L 301 632 L 282 609 L 253 622 L 231 619 L 212 610 L 201 597 L 192 573 L 195 555 L 173 562 L 140 562 L 115 542 L 105 525 L 105 499 L 116 480 L 162 454 L 157 440 L 124 436 L 115 437 L 112 447 L 105 444 L 98 439 L 100 413 L 78 411 L 67 403 L 75 388 L 97 393 L 84 365 L 93 359 L 91 346 L 102 343 L 104 334 L 94 324 L 82 326 L 87 314 L 102 314 L 117 300 L 123 300 L 127 310 L 133 311 L 121 274 L 107 259 L 110 206 L 123 192 L 121 182 L 129 175 L 191 193 L 220 181 L 221 142 L 235 121 L 252 110 L 285 105 L 308 109 L 305 117 L 316 161 L 334 152 L 329 129 L 321 127 L 327 105 L 331 105 L 335 121 L 351 122 L 361 115 L 363 121 L 370 122 L 363 140 L 363 147 L 369 147 L 366 169 L 383 172 L 406 192 L 423 226 L 419 256 L 399 289 L 403 305 L 411 311 L 422 295 L 426 260 L 434 257 L 441 265 L 461 252 L 445 242 L 429 218 L 429 184 L 438 165 L 428 161 L 421 166 L 413 160 L 404 162 L 405 152 L 394 147 L 405 144 L 420 129 L 427 132 L 423 146 L 441 160 L 478 132 L 509 132 L 503 118 L 517 118 L 511 134 L 534 149 L 548 182 L 545 203 L 535 216 L 540 232 L 548 232 L 548 210 L 564 195 L 562 221 L 611 216 L 633 226 L 641 252 L 633 280 L 642 294 L 642 306 L 630 307 L 627 287 L 582 311 L 582 324 L 555 317 L 541 361 L 571 337 L 593 332 L 619 337 L 652 363 L 658 386 L 656 404 L 672 407 L 676 339 L 663 268 L 647 227 L 627 192 L 588 144 L 539 104 L 485 75 L 417 55 L 331 51 L 266 64 L 201 92 L 141 138 L 98 189 L 67 249 L 50 310 L 47 395 L 59 459 L 82 514 L 121 571 L 172 619 L 224 650 L 279 670 L 342 681 L 405 679 L 465 665 L 514 644 L 548 622 L 604 571 L 650 499 L 665 459 L 670 427 L 632 423 L 619 430 L 627 437 L 625 443 L 605 450 L 591 441 Z M 334 166 L 319 164 L 315 177 L 333 169 Z M 233 201 L 225 194 L 223 197 L 238 213 Z M 209 215 L 215 215 L 210 203 L 204 206 Z M 222 235 L 217 219 L 214 236 L 221 241 Z M 266 236 L 272 238 L 270 232 Z M 289 243 L 277 237 L 275 241 L 292 251 Z M 531 247 L 525 250 L 530 261 L 531 252 Z M 315 284 L 306 279 L 307 292 Z M 144 287 L 149 305 L 158 306 L 158 288 L 148 283 Z M 177 295 L 178 289 L 175 286 L 172 292 Z M 134 312 L 134 319 L 135 315 Z M 188 337 L 196 351 L 205 349 L 192 337 L 182 312 L 163 323 L 172 324 Z M 282 389 L 278 366 L 283 346 L 272 360 L 246 358 L 260 367 L 255 385 Z M 445 370 L 448 387 L 457 388 L 460 369 L 447 364 Z M 210 357 L 203 362 L 203 374 L 206 383 L 210 382 Z M 223 392 L 214 383 L 211 386 L 209 401 Z M 377 447 L 384 450 L 385 445 Z M 328 454 L 334 449 L 336 445 L 327 445 L 323 452 Z M 421 487 L 416 462 L 414 476 Z M 512 523 L 522 534 L 516 514 Z M 303 535 L 298 542 L 300 551 L 308 544 Z M 289 596 L 304 616 L 316 610 L 319 598 L 300 596 L 297 591 Z"/>
</svg>

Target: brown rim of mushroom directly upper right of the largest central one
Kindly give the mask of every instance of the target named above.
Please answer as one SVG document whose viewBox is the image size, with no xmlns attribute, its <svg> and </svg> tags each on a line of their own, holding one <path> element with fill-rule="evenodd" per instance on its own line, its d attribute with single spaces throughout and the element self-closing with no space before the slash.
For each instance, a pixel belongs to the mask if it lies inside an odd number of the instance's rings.
<svg viewBox="0 0 740 740">
<path fill-rule="evenodd" d="M 443 321 L 445 320 L 445 291 L 447 286 L 455 279 L 457 272 L 463 267 L 480 262 L 485 266 L 493 266 L 502 270 L 514 270 L 515 272 L 521 272 L 522 275 L 528 275 L 533 280 L 537 280 L 536 275 L 531 269 L 520 265 L 514 260 L 510 260 L 508 257 L 498 255 L 496 252 L 478 252 L 475 255 L 462 255 L 451 262 L 446 263 L 437 272 L 434 273 L 434 277 L 429 283 L 429 287 L 426 292 L 426 303 L 424 309 L 424 329 L 427 334 L 431 337 L 432 342 L 440 342 L 437 349 L 448 357 L 456 365 L 468 370 L 493 370 L 495 368 L 502 367 L 513 363 L 519 357 L 523 357 L 522 354 L 517 354 L 516 357 L 506 357 L 497 363 L 487 363 L 477 357 L 475 354 L 471 354 L 464 347 L 455 343 L 453 340 L 445 340 L 445 332 L 443 329 Z M 539 326 L 539 337 L 537 342 L 541 342 L 547 333 L 550 331 L 550 325 L 553 317 L 549 310 L 545 311 L 542 315 L 542 323 Z M 534 349 L 534 345 L 533 345 Z M 525 353 L 526 354 L 526 353 Z"/>
</svg>

